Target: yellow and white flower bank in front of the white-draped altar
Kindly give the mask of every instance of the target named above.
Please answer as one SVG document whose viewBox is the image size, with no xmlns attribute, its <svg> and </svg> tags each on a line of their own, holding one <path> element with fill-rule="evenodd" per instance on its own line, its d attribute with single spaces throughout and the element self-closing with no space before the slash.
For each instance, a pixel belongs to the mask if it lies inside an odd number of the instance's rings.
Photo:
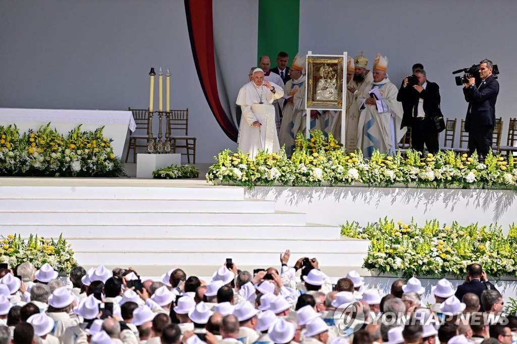
<svg viewBox="0 0 517 344">
<path fill-rule="evenodd" d="M 73 129 L 68 136 L 50 128 L 20 135 L 16 124 L 0 126 L 0 176 L 123 177 L 123 162 L 114 157 L 113 139 L 95 131 Z"/>
</svg>

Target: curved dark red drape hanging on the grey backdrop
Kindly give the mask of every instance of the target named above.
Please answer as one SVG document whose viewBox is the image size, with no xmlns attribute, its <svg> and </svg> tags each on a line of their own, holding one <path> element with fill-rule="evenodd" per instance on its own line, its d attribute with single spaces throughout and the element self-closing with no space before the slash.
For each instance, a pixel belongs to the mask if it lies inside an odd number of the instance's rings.
<svg viewBox="0 0 517 344">
<path fill-rule="evenodd" d="M 185 11 L 192 55 L 206 101 L 224 133 L 237 142 L 237 128 L 224 112 L 217 91 L 212 0 L 185 0 Z"/>
</svg>

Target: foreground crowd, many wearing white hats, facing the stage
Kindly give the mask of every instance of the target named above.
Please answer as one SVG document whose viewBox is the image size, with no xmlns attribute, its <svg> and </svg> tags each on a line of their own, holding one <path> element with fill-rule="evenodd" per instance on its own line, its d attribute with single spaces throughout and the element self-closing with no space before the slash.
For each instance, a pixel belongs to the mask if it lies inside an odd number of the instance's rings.
<svg viewBox="0 0 517 344">
<path fill-rule="evenodd" d="M 240 271 L 224 263 L 211 280 L 181 269 L 141 280 L 131 268 L 75 267 L 71 286 L 49 264 L 0 269 L 0 344 L 511 344 L 517 318 L 481 265 L 454 290 L 436 281 L 423 304 L 419 279 L 389 294 L 350 271 L 332 284 L 316 258 Z M 298 272 L 300 277 L 297 277 Z"/>
</svg>

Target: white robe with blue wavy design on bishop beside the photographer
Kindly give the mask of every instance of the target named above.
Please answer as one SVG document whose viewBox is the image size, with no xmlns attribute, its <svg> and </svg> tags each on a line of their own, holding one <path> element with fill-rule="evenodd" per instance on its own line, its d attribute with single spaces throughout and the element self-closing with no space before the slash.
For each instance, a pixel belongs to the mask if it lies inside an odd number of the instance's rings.
<svg viewBox="0 0 517 344">
<path fill-rule="evenodd" d="M 376 105 L 368 105 L 364 102 L 369 98 L 369 93 L 363 93 L 357 99 L 361 111 L 358 124 L 357 147 L 361 148 L 364 157 L 372 156 L 373 150 L 381 153 L 393 151 L 406 132 L 406 128 L 400 128 L 402 121 L 402 104 L 397 101 L 399 92 L 388 77 L 381 82 L 372 83 L 372 89 L 378 87 L 383 101 L 388 106 L 387 111 L 379 112 Z"/>
</svg>

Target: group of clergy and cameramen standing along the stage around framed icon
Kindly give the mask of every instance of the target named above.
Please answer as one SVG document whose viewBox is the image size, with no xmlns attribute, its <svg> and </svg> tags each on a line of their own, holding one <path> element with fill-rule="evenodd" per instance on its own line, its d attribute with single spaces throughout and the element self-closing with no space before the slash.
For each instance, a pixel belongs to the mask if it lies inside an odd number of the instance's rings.
<svg viewBox="0 0 517 344">
<path fill-rule="evenodd" d="M 296 55 L 291 67 L 287 67 L 287 61 L 288 54 L 280 52 L 277 67 L 269 69 L 269 57 L 262 56 L 260 67 L 251 68 L 249 83 L 239 91 L 239 149 L 252 158 L 258 150 L 278 152 L 282 146 L 291 155 L 296 133 L 307 129 L 307 82 L 316 85 L 314 100 L 338 100 L 337 72 L 330 65 L 322 65 L 307 81 L 305 58 Z M 406 76 L 397 88 L 390 81 L 387 68 L 388 58 L 381 54 L 376 55 L 371 70 L 362 52 L 355 58 L 348 57 L 344 137 L 342 111 L 338 110 L 309 110 L 310 129 L 332 133 L 347 151 L 361 149 L 364 157 L 369 158 L 374 149 L 394 153 L 406 130 L 412 128 L 413 148 L 436 153 L 438 133 L 445 129 L 439 86 L 427 80 L 422 64 L 415 64 L 413 74 Z M 495 124 L 499 84 L 492 71 L 492 61 L 484 59 L 479 64 L 479 75 L 466 75 L 463 80 L 468 103 L 468 147 L 470 153 L 477 151 L 481 157 L 492 147 Z"/>
</svg>

